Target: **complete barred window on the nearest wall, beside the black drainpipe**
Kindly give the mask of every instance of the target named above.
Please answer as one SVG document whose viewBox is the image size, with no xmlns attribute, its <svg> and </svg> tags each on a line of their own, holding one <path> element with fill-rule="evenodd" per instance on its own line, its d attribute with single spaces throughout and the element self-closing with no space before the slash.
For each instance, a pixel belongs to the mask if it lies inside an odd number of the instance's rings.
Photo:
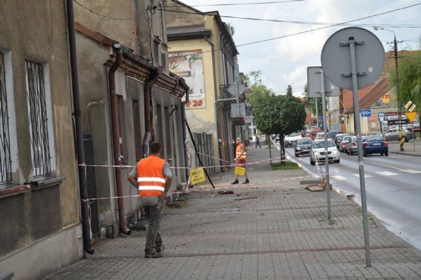
<svg viewBox="0 0 421 280">
<path fill-rule="evenodd" d="M 41 64 L 26 61 L 26 95 L 34 177 L 51 173 L 44 72 Z"/>
</svg>

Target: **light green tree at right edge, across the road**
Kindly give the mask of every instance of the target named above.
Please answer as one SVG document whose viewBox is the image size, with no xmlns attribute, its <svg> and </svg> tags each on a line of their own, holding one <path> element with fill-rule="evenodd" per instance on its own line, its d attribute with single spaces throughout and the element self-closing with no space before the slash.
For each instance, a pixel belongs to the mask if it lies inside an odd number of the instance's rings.
<svg viewBox="0 0 421 280">
<path fill-rule="evenodd" d="M 400 101 L 402 106 L 409 100 L 421 107 L 421 51 L 405 51 L 399 59 Z M 396 88 L 395 68 L 389 69 L 391 85 Z M 401 108 L 403 111 L 405 108 Z M 418 110 L 420 112 L 420 110 Z M 418 117 L 421 121 L 421 114 Z"/>
</svg>

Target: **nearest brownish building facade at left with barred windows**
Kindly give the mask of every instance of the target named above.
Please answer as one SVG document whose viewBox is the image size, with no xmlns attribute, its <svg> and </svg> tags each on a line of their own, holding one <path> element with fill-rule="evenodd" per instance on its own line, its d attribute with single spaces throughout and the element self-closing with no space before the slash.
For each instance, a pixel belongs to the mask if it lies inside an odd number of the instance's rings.
<svg viewBox="0 0 421 280">
<path fill-rule="evenodd" d="M 0 272 L 40 279 L 83 247 L 66 1 L 0 16 Z"/>
</svg>

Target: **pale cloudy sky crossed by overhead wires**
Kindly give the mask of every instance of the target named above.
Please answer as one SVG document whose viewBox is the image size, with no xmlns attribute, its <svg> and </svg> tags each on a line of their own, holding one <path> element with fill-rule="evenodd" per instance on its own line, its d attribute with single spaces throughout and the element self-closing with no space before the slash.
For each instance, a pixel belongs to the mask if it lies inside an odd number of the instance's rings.
<svg viewBox="0 0 421 280">
<path fill-rule="evenodd" d="M 420 0 L 181 1 L 204 12 L 218 11 L 222 21 L 234 27 L 233 38 L 240 53 L 238 55 L 240 72 L 248 74 L 250 71 L 260 70 L 262 83 L 276 94 L 285 94 L 288 85 L 291 85 L 294 95 L 302 96 L 307 82 L 307 67 L 321 66 L 320 56 L 325 42 L 342 28 L 357 26 L 371 31 L 379 38 L 385 51 L 393 49 L 393 44 L 387 44 L 393 42 L 393 32 L 397 41 L 404 41 L 398 44 L 398 50 L 420 48 Z M 411 5 L 415 6 L 405 8 Z M 328 27 L 356 19 L 361 20 L 348 25 Z M 291 23 L 291 21 L 301 23 Z M 328 23 L 328 25 L 315 23 Z M 389 31 L 376 31 L 373 26 L 381 26 Z M 300 32 L 305 33 L 294 35 Z M 241 46 L 277 37 L 284 38 Z"/>
</svg>

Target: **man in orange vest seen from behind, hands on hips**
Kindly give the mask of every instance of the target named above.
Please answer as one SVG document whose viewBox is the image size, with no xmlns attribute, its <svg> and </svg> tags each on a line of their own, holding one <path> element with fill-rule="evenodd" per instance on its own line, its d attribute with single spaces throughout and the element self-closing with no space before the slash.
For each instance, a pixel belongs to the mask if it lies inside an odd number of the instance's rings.
<svg viewBox="0 0 421 280">
<path fill-rule="evenodd" d="M 161 152 L 161 144 L 152 142 L 149 145 L 150 155 L 141 159 L 127 177 L 131 185 L 139 189 L 141 202 L 149 220 L 145 258 L 161 258 L 164 249 L 159 227 L 161 211 L 172 183 L 172 174 L 168 162 L 160 158 Z"/>
</svg>

